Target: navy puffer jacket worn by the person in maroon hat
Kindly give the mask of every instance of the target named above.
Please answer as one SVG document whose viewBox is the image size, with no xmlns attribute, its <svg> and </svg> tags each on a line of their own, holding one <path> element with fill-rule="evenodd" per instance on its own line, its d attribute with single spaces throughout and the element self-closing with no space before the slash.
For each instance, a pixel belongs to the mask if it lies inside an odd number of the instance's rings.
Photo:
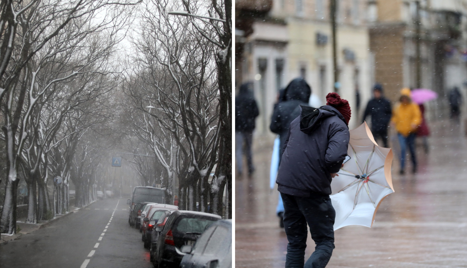
<svg viewBox="0 0 467 268">
<path fill-rule="evenodd" d="M 347 156 L 350 133 L 344 117 L 332 106 L 300 106 L 290 123 L 276 183 L 281 193 L 309 197 L 331 194 L 331 173 Z"/>
</svg>

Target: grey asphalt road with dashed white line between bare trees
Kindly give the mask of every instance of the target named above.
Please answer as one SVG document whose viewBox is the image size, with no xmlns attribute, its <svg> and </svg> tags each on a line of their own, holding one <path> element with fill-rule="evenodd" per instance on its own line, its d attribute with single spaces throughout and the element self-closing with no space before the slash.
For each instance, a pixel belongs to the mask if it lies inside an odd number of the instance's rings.
<svg viewBox="0 0 467 268">
<path fill-rule="evenodd" d="M 92 203 L 0 246 L 2 268 L 150 268 L 141 233 L 128 225 L 127 199 Z"/>
</svg>

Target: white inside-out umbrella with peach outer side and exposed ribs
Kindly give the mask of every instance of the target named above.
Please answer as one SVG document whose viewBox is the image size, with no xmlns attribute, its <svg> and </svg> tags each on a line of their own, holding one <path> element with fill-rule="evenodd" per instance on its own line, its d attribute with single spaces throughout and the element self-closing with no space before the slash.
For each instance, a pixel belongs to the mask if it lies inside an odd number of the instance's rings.
<svg viewBox="0 0 467 268">
<path fill-rule="evenodd" d="M 350 160 L 331 183 L 334 230 L 347 225 L 371 227 L 382 200 L 394 193 L 392 150 L 376 144 L 367 123 L 350 130 L 347 154 Z"/>
</svg>

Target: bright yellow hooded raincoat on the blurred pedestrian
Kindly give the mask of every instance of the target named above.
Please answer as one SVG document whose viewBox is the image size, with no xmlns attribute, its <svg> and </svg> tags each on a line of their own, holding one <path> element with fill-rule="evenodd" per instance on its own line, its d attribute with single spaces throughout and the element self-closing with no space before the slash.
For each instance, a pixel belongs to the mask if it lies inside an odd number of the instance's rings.
<svg viewBox="0 0 467 268">
<path fill-rule="evenodd" d="M 420 108 L 414 102 L 407 104 L 399 103 L 392 112 L 391 122 L 396 124 L 397 132 L 404 137 L 417 131 L 417 127 L 422 123 Z M 412 125 L 416 125 L 415 128 Z"/>
</svg>

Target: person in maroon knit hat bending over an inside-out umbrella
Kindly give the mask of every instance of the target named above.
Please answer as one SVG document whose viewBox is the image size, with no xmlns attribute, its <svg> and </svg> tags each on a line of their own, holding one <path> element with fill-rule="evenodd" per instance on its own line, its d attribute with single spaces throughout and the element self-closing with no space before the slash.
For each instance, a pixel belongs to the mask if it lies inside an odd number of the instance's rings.
<svg viewBox="0 0 467 268">
<path fill-rule="evenodd" d="M 326 100 L 319 109 L 300 105 L 284 141 L 276 182 L 289 241 L 285 267 L 324 268 L 334 249 L 336 213 L 329 195 L 347 156 L 351 110 L 337 93 Z M 316 247 L 305 263 L 307 224 Z"/>
</svg>

